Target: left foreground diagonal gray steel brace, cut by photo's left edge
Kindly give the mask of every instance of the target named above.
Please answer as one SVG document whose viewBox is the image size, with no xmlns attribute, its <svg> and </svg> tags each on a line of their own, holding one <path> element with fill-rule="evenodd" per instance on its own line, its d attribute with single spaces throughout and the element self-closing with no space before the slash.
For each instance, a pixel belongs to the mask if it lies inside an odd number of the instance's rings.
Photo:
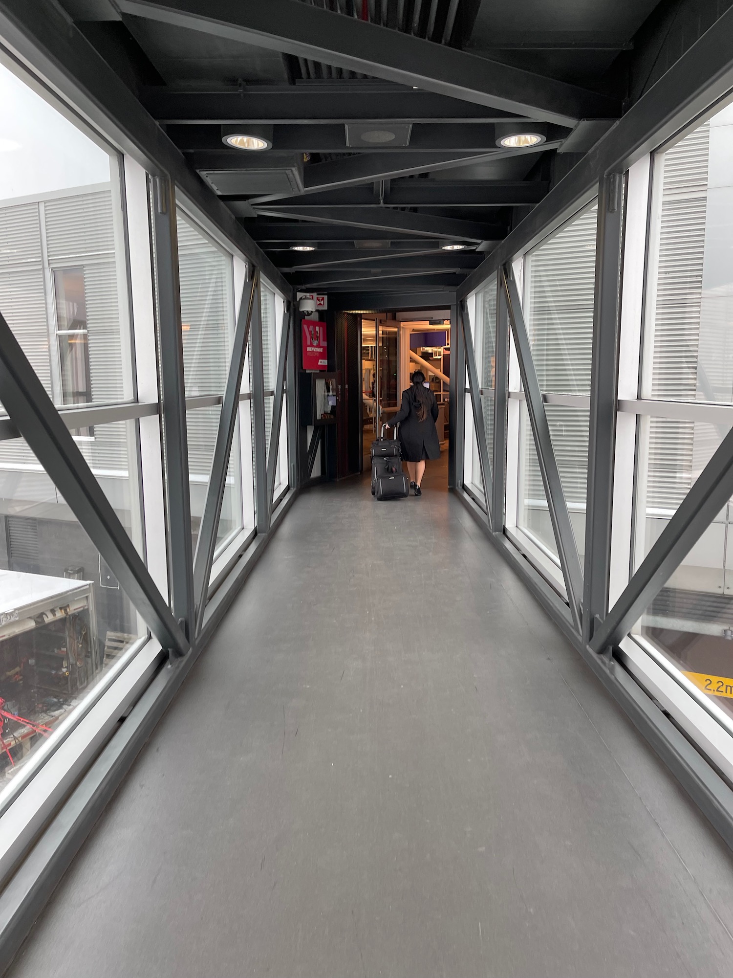
<svg viewBox="0 0 733 978">
<path fill-rule="evenodd" d="M 160 645 L 185 655 L 182 629 L 2 314 L 0 401 Z"/>
</svg>

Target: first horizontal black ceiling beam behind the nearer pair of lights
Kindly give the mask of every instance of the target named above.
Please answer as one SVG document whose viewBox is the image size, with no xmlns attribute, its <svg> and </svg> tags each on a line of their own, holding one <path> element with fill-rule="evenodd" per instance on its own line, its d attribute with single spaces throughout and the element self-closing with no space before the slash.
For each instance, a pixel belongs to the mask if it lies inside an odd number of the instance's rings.
<svg viewBox="0 0 733 978">
<path fill-rule="evenodd" d="M 384 189 L 381 202 L 369 185 L 288 197 L 278 200 L 278 206 L 379 207 L 383 203 L 391 207 L 522 207 L 539 203 L 548 190 L 549 184 L 544 181 L 450 184 L 442 180 L 404 180 L 392 181 Z"/>
</svg>

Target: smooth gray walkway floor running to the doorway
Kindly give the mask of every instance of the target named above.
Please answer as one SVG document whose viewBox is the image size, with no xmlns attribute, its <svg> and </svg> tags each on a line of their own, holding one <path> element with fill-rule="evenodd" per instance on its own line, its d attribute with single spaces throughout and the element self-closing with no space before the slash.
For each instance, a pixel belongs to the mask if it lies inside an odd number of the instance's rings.
<svg viewBox="0 0 733 978">
<path fill-rule="evenodd" d="M 446 492 L 305 493 L 13 978 L 733 973 L 733 861 Z"/>
</svg>

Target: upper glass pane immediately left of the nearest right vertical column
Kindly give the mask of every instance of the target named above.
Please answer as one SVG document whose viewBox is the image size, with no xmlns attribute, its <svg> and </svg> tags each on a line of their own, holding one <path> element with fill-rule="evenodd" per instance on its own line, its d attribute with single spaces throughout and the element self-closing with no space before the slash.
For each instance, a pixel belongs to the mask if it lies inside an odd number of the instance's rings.
<svg viewBox="0 0 733 978">
<path fill-rule="evenodd" d="M 597 202 L 525 256 L 524 314 L 543 392 L 590 393 Z"/>
</svg>

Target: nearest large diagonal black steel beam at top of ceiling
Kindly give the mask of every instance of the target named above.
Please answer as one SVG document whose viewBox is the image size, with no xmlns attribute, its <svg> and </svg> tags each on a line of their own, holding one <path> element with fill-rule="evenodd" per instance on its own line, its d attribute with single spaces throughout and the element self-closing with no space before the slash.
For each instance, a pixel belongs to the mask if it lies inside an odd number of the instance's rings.
<svg viewBox="0 0 733 978">
<path fill-rule="evenodd" d="M 573 126 L 613 118 L 617 99 L 555 78 L 436 46 L 294 0 L 117 0 L 125 14 L 364 72 L 502 111 Z"/>
</svg>

